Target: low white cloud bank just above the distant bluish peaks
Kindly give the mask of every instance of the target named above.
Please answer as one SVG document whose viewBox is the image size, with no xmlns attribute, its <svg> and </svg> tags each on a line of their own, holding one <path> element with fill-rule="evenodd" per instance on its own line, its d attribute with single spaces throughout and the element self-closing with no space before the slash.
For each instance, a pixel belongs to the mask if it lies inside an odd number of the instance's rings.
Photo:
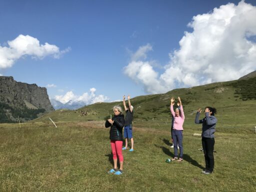
<svg viewBox="0 0 256 192">
<path fill-rule="evenodd" d="M 64 95 L 55 95 L 54 99 L 62 102 L 63 104 L 68 102 L 69 100 L 75 102 L 82 101 L 85 104 L 92 104 L 95 102 L 104 102 L 109 99 L 107 96 L 104 96 L 102 94 L 96 95 L 95 92 L 95 88 L 90 88 L 89 93 L 84 92 L 82 95 L 75 95 L 72 91 L 68 91 Z"/>
</svg>

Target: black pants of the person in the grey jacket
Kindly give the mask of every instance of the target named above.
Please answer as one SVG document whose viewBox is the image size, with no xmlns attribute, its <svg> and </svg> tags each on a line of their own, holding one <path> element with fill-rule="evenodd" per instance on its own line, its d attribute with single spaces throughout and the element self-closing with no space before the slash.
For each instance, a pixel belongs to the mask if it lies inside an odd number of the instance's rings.
<svg viewBox="0 0 256 192">
<path fill-rule="evenodd" d="M 214 157 L 213 148 L 215 140 L 210 137 L 202 137 L 202 149 L 205 159 L 205 170 L 213 171 L 214 167 Z"/>
</svg>

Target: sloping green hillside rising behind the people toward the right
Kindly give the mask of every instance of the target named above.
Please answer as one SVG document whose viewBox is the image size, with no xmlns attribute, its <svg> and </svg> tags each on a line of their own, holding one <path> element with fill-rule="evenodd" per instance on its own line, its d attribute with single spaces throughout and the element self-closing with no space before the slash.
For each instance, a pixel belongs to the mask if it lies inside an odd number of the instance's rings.
<svg viewBox="0 0 256 192">
<path fill-rule="evenodd" d="M 205 106 L 217 109 L 218 127 L 244 129 L 256 124 L 254 113 L 256 106 L 256 77 L 248 79 L 216 82 L 190 88 L 174 89 L 164 94 L 137 96 L 131 99 L 134 106 L 134 126 L 167 127 L 169 126 L 169 99 L 179 96 L 185 113 L 185 127 L 194 127 L 196 110 Z M 120 98 L 122 93 L 120 93 Z M 112 114 L 114 105 L 120 102 L 101 102 L 77 110 L 60 109 L 47 113 L 33 121 L 48 122 L 49 116 L 54 121 L 104 120 Z M 83 111 L 83 112 L 82 112 Z M 86 111 L 86 115 L 82 115 Z M 224 131 L 224 130 L 223 130 Z"/>
</svg>

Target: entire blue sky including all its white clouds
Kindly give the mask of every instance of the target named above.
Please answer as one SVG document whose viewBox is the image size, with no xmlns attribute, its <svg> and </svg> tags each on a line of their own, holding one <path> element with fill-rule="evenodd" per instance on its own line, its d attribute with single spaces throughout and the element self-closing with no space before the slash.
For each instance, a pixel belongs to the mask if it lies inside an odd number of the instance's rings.
<svg viewBox="0 0 256 192">
<path fill-rule="evenodd" d="M 0 0 L 0 75 L 91 104 L 256 70 L 255 0 Z"/>
</svg>

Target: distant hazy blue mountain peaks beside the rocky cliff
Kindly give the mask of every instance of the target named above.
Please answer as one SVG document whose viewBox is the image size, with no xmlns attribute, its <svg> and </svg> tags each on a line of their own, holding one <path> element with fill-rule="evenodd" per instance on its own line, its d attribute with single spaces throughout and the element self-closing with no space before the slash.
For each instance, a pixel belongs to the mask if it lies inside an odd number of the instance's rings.
<svg viewBox="0 0 256 192">
<path fill-rule="evenodd" d="M 85 102 L 83 101 L 72 101 L 69 100 L 66 103 L 62 103 L 54 98 L 50 99 L 51 105 L 53 106 L 54 109 L 61 109 L 61 108 L 67 108 L 67 109 L 77 109 L 85 106 Z"/>
</svg>

